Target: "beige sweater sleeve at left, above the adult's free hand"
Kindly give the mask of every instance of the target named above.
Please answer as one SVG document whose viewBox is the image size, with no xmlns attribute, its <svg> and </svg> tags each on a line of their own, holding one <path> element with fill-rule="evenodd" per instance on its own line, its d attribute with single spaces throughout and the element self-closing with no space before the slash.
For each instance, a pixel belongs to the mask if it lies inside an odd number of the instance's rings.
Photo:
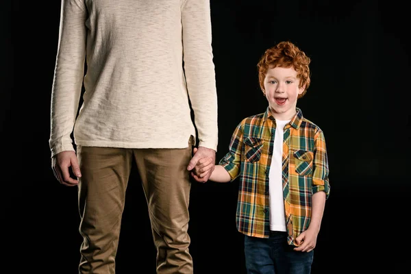
<svg viewBox="0 0 411 274">
<path fill-rule="evenodd" d="M 75 123 L 84 77 L 86 16 L 83 0 L 62 0 L 58 51 L 51 89 L 51 157 L 74 151 L 71 132 Z"/>
</svg>

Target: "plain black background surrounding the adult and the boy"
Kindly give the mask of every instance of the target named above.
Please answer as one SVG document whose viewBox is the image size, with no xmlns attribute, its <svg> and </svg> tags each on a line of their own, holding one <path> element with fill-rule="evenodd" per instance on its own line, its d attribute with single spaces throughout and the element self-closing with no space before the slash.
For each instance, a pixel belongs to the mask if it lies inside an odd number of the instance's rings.
<svg viewBox="0 0 411 274">
<path fill-rule="evenodd" d="M 409 238 L 409 14 L 399 1 L 212 0 L 219 160 L 245 116 L 264 112 L 256 64 L 290 40 L 312 58 L 297 106 L 325 134 L 331 194 L 312 273 L 399 273 Z M 60 1 L 1 2 L 3 267 L 77 273 L 77 188 L 51 171 L 50 95 Z M 238 182 L 193 183 L 195 273 L 245 273 Z M 127 188 L 117 273 L 155 273 L 136 170 Z"/>
</svg>

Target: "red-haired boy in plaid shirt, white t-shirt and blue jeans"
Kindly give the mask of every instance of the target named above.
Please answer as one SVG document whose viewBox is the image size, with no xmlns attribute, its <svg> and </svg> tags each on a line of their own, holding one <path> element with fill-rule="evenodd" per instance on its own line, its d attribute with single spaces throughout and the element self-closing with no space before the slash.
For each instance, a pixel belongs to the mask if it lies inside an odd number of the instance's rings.
<svg viewBox="0 0 411 274">
<path fill-rule="evenodd" d="M 247 273 L 311 271 L 329 170 L 323 132 L 297 108 L 310 86 L 309 64 L 291 42 L 266 50 L 258 73 L 269 107 L 241 121 L 209 178 L 240 177 L 236 219 Z M 192 176 L 201 177 L 211 162 L 202 159 Z"/>
</svg>

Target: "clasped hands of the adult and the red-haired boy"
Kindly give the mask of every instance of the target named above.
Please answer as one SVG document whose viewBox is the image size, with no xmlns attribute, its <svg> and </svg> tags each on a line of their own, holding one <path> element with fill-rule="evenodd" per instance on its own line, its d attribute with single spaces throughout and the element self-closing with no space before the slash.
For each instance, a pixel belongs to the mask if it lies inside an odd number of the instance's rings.
<svg viewBox="0 0 411 274">
<path fill-rule="evenodd" d="M 193 149 L 193 156 L 188 164 L 188 171 L 197 182 L 207 182 L 212 171 L 214 171 L 216 151 L 206 147 Z"/>
</svg>

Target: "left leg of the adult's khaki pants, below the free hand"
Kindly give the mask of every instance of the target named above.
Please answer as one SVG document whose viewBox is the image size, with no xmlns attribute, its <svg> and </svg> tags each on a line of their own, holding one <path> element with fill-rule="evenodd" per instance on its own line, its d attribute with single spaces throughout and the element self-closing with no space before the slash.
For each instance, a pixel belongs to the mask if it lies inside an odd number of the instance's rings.
<svg viewBox="0 0 411 274">
<path fill-rule="evenodd" d="M 77 147 L 82 171 L 78 199 L 83 236 L 79 273 L 115 273 L 132 150 Z"/>
</svg>

